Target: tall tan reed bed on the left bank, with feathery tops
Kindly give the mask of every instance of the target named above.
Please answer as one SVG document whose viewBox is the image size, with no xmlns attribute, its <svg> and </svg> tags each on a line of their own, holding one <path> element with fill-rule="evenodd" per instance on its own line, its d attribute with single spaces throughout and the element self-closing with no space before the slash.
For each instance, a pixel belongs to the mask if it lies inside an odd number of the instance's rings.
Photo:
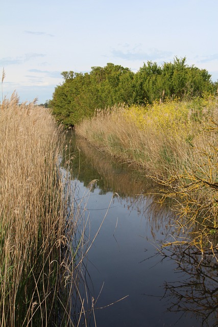
<svg viewBox="0 0 218 327">
<path fill-rule="evenodd" d="M 84 221 L 80 208 L 74 208 L 67 173 L 59 167 L 62 145 L 48 109 L 34 102 L 19 105 L 16 94 L 3 101 L 1 327 L 75 326 L 85 319 L 79 293 Z"/>
</svg>

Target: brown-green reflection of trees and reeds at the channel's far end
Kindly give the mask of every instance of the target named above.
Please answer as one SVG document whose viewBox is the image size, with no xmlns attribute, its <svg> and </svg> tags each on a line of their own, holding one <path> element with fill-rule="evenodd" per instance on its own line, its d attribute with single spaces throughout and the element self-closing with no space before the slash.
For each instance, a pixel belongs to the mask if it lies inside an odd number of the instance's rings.
<svg viewBox="0 0 218 327">
<path fill-rule="evenodd" d="M 98 179 L 101 192 L 116 192 L 120 197 L 136 197 L 151 188 L 151 180 L 139 175 L 136 171 L 127 170 L 125 165 L 115 164 L 110 157 L 91 147 L 84 139 L 68 135 L 66 160 L 71 152 L 71 174 L 86 186 L 92 179 Z M 69 146 L 69 142 L 71 145 Z M 154 184 L 154 183 L 153 183 Z"/>
</svg>

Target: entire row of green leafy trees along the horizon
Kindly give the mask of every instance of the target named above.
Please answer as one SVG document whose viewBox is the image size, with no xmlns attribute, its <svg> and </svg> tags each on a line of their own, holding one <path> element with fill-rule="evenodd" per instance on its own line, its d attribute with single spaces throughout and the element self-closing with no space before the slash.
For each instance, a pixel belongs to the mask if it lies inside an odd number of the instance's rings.
<svg viewBox="0 0 218 327">
<path fill-rule="evenodd" d="M 91 117 L 96 108 L 118 103 L 152 104 L 155 100 L 191 99 L 214 92 L 218 82 L 211 81 L 206 69 L 186 64 L 186 58 L 158 65 L 148 61 L 137 73 L 121 65 L 108 63 L 91 67 L 90 73 L 62 72 L 63 83 L 55 88 L 52 108 L 58 122 L 66 127 Z"/>
</svg>

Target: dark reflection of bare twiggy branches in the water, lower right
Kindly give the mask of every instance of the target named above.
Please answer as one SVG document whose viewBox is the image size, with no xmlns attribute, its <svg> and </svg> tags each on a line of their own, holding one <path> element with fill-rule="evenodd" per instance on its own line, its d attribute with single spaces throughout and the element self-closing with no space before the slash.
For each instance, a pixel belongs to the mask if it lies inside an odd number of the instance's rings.
<svg viewBox="0 0 218 327">
<path fill-rule="evenodd" d="M 217 248 L 216 248 L 217 252 Z M 216 253 L 217 254 L 217 253 Z M 185 281 L 166 282 L 164 297 L 171 302 L 171 312 L 192 312 L 201 320 L 202 326 L 218 324 L 218 263 L 213 253 L 197 251 L 195 247 L 174 246 L 164 255 L 178 264 L 184 272 Z"/>
</svg>

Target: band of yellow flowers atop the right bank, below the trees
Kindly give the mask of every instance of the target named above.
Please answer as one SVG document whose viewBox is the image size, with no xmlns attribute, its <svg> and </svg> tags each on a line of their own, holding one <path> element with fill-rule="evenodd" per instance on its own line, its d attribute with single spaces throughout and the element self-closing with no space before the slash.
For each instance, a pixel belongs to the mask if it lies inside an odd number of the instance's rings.
<svg viewBox="0 0 218 327">
<path fill-rule="evenodd" d="M 201 123 L 212 115 L 215 99 L 210 95 L 185 102 L 180 99 L 166 100 L 164 103 L 155 101 L 152 105 L 131 105 L 123 107 L 119 112 L 127 122 L 132 122 L 140 130 L 148 127 L 157 131 L 182 130 L 191 123 Z"/>
</svg>

